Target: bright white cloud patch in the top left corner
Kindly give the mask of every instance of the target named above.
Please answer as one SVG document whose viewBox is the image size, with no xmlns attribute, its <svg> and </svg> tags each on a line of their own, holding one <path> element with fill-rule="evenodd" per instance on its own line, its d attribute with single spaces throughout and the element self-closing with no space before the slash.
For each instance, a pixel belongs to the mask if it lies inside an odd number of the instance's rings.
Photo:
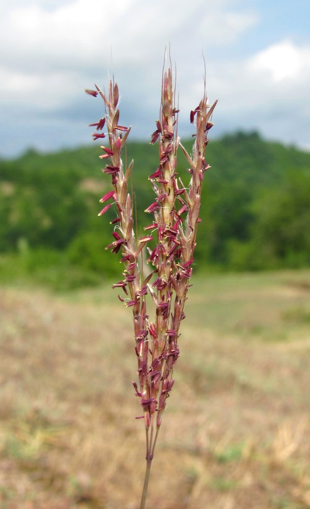
<svg viewBox="0 0 310 509">
<path fill-rule="evenodd" d="M 132 2 L 77 0 L 53 11 L 41 4 L 17 7 L 2 23 L 0 40 L 3 47 L 9 48 L 6 61 L 13 66 L 30 64 L 34 70 L 64 64 L 94 65 L 101 55 L 108 58 L 111 42 L 119 31 L 119 17 L 126 16 Z"/>
</svg>

